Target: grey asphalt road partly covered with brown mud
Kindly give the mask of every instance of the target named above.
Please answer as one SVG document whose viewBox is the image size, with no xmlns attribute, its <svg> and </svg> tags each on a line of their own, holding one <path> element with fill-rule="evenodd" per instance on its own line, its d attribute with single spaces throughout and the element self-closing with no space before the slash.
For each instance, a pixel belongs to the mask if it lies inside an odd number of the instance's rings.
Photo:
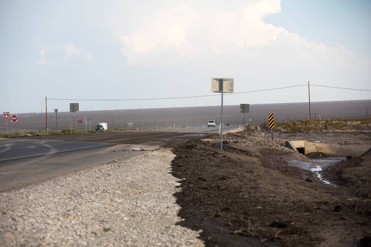
<svg viewBox="0 0 371 247">
<path fill-rule="evenodd" d="M 0 139 L 0 192 L 218 132 L 198 127 Z"/>
</svg>

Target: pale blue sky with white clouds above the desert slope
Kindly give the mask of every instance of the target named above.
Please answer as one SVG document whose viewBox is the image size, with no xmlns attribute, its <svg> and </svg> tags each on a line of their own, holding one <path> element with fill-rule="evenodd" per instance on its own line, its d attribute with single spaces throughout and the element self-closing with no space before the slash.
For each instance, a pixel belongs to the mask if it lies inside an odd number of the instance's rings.
<svg viewBox="0 0 371 247">
<path fill-rule="evenodd" d="M 0 1 L 0 111 L 220 105 L 311 84 L 371 90 L 367 0 Z M 311 86 L 311 101 L 371 99 Z M 169 100 L 128 100 L 215 95 Z M 308 87 L 224 94 L 308 101 Z M 126 99 L 76 101 L 51 99 Z"/>
</svg>

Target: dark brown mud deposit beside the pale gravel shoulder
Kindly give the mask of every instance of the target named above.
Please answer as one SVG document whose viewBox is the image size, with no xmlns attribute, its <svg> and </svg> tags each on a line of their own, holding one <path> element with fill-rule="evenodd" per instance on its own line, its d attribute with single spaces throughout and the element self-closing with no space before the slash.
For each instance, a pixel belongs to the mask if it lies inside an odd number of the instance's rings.
<svg viewBox="0 0 371 247">
<path fill-rule="evenodd" d="M 263 134 L 253 127 L 246 137 L 229 133 L 223 153 L 218 136 L 174 148 L 173 174 L 182 188 L 175 196 L 185 219 L 179 224 L 202 230 L 206 246 L 367 244 L 370 198 L 358 197 L 345 180 L 335 187 L 310 170 L 289 166 L 290 160 L 309 158 Z M 340 183 L 334 174 L 340 176 L 332 171 L 326 178 Z"/>
</svg>

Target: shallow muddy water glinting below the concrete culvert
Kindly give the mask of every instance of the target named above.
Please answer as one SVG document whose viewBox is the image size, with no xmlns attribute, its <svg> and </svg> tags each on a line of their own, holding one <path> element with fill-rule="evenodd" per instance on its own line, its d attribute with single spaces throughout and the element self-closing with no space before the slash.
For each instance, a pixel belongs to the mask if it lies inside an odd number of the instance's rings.
<svg viewBox="0 0 371 247">
<path fill-rule="evenodd" d="M 302 168 L 304 170 L 310 170 L 316 174 L 317 178 L 324 182 L 325 184 L 335 184 L 331 183 L 331 181 L 327 180 L 325 177 L 322 176 L 322 169 L 328 166 L 332 166 L 333 164 L 347 160 L 345 157 L 330 157 L 330 158 L 314 158 L 311 162 L 308 161 L 301 161 L 301 160 L 292 160 L 289 161 L 290 166 L 296 166 Z"/>
</svg>

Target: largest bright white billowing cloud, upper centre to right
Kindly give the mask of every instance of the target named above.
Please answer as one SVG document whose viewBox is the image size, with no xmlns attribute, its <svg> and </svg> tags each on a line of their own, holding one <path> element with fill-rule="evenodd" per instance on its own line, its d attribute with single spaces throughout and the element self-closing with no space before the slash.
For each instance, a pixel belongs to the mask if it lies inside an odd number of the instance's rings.
<svg viewBox="0 0 371 247">
<path fill-rule="evenodd" d="M 127 64 L 144 66 L 193 61 L 211 66 L 220 56 L 229 61 L 227 68 L 252 63 L 259 64 L 259 70 L 285 69 L 298 63 L 345 67 L 354 64 L 352 60 L 359 60 L 344 47 L 314 43 L 262 20 L 280 11 L 280 0 L 250 0 L 237 11 L 185 5 L 164 7 L 153 10 L 141 21 L 133 20 L 141 23 L 135 30 L 122 30 L 125 34 L 119 36 L 121 51 Z"/>
</svg>

